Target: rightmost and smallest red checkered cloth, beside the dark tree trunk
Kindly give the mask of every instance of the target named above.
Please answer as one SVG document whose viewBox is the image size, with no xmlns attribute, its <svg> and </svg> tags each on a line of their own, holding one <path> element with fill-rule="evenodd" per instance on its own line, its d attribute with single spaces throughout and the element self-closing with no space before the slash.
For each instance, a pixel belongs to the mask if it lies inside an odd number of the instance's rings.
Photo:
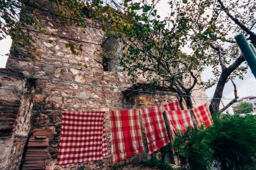
<svg viewBox="0 0 256 170">
<path fill-rule="evenodd" d="M 195 121 L 197 122 L 197 126 L 211 126 L 214 124 L 212 121 L 212 116 L 210 114 L 209 106 L 207 103 L 200 105 L 197 108 L 193 108 L 192 112 L 195 116 Z"/>
</svg>

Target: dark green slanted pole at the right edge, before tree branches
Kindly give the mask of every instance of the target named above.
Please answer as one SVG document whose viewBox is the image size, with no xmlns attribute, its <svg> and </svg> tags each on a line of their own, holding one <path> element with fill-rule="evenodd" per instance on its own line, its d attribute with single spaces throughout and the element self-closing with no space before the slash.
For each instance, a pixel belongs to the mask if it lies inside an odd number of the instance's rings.
<svg viewBox="0 0 256 170">
<path fill-rule="evenodd" d="M 245 60 L 247 60 L 251 72 L 256 79 L 256 54 L 254 53 L 253 49 L 251 48 L 243 34 L 236 36 L 235 39 L 243 55 L 245 56 Z"/>
</svg>

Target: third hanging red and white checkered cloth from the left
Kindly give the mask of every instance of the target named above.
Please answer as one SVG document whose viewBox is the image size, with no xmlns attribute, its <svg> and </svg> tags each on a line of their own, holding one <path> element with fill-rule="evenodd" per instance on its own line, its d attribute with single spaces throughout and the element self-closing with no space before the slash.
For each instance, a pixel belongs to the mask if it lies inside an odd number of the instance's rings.
<svg viewBox="0 0 256 170">
<path fill-rule="evenodd" d="M 154 153 L 170 142 L 161 106 L 141 109 L 149 153 Z"/>
</svg>

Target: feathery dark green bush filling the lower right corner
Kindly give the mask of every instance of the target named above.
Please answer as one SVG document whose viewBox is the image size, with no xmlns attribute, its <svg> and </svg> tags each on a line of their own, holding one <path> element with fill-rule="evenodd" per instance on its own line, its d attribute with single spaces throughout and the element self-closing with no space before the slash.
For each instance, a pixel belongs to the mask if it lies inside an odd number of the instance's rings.
<svg viewBox="0 0 256 170">
<path fill-rule="evenodd" d="M 256 161 L 255 116 L 221 116 L 214 126 L 187 130 L 174 140 L 183 169 L 253 169 Z M 253 165 L 254 164 L 254 165 Z"/>
</svg>

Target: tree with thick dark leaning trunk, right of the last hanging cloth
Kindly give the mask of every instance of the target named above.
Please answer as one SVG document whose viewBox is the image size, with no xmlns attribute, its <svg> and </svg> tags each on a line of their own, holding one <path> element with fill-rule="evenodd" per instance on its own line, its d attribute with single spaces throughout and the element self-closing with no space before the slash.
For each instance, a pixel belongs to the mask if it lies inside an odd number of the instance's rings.
<svg viewBox="0 0 256 170">
<path fill-rule="evenodd" d="M 205 83 L 206 87 L 216 85 L 210 110 L 219 110 L 220 99 L 223 90 L 228 83 L 234 85 L 234 99 L 230 101 L 220 111 L 224 112 L 232 103 L 238 99 L 236 85 L 234 80 L 236 77 L 243 79 L 244 73 L 247 72 L 247 65 L 241 65 L 245 58 L 239 51 L 234 40 L 236 34 L 245 34 L 247 40 L 256 46 L 256 34 L 253 32 L 256 28 L 255 24 L 255 1 L 201 1 L 205 3 L 206 8 L 201 9 L 201 13 L 205 13 L 198 17 L 194 22 L 193 32 L 195 36 L 195 46 L 207 46 L 207 64 L 213 68 L 213 73 L 218 79 L 210 79 Z M 190 7 L 190 12 L 195 11 L 195 7 Z M 205 7 L 202 5 L 202 7 Z M 199 10 L 200 11 L 200 10 Z M 206 43 L 205 43 L 206 42 Z"/>
</svg>

